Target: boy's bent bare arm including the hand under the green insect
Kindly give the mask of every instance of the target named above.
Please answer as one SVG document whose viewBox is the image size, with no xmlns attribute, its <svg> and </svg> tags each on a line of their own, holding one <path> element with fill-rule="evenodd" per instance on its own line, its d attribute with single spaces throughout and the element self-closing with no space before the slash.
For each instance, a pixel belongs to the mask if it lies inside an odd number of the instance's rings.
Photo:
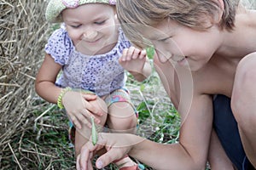
<svg viewBox="0 0 256 170">
<path fill-rule="evenodd" d="M 212 130 L 212 98 L 206 94 L 195 96 L 189 112 L 181 116 L 177 144 L 158 144 L 133 134 L 101 133 L 100 144 L 84 144 L 77 166 L 87 167 L 94 150 L 105 146 L 108 151 L 96 161 L 98 168 L 128 154 L 154 169 L 204 170 Z"/>
</svg>

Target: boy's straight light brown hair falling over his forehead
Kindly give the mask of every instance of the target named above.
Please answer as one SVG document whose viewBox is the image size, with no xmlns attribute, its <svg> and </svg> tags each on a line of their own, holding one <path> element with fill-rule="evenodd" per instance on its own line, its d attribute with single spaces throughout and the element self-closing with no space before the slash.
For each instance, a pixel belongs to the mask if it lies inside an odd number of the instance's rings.
<svg viewBox="0 0 256 170">
<path fill-rule="evenodd" d="M 239 0 L 224 0 L 221 29 L 232 31 Z M 118 0 L 119 22 L 129 39 L 142 38 L 137 26 L 156 26 L 160 21 L 171 19 L 183 26 L 206 31 L 222 11 L 217 0 Z M 209 19 L 212 23 L 209 23 Z"/>
</svg>

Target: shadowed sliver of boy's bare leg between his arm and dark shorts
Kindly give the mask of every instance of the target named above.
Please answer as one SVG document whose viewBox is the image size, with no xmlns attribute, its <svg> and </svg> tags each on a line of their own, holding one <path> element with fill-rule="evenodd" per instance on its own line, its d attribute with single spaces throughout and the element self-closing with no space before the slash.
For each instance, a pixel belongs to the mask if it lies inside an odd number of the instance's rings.
<svg viewBox="0 0 256 170">
<path fill-rule="evenodd" d="M 226 155 L 224 148 L 220 144 L 214 129 L 212 129 L 208 161 L 210 163 L 211 170 L 235 170 L 230 158 Z"/>
</svg>

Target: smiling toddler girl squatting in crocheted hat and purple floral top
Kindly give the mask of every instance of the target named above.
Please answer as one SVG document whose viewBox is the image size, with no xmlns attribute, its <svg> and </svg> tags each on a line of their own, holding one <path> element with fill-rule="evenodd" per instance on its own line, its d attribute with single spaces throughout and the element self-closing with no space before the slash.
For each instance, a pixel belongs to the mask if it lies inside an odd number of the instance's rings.
<svg viewBox="0 0 256 170">
<path fill-rule="evenodd" d="M 90 139 L 90 117 L 98 125 L 107 124 L 111 132 L 134 133 L 137 114 L 125 89 L 125 71 L 119 65 L 123 49 L 131 43 L 117 25 L 115 1 L 50 0 L 46 19 L 63 24 L 45 46 L 36 91 L 67 111 L 76 155 Z M 145 52 L 141 56 L 145 59 Z M 131 74 L 144 79 L 143 68 Z M 137 169 L 129 157 L 116 164 Z"/>
</svg>

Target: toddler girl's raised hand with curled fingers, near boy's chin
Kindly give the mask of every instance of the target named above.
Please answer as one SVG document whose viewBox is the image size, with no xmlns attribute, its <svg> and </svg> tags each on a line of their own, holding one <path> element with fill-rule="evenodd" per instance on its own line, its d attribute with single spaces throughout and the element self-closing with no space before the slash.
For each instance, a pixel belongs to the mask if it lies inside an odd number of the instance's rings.
<svg viewBox="0 0 256 170">
<path fill-rule="evenodd" d="M 143 68 L 146 62 L 146 50 L 135 47 L 125 48 L 122 56 L 119 58 L 119 64 L 126 71 L 143 74 Z"/>
</svg>

